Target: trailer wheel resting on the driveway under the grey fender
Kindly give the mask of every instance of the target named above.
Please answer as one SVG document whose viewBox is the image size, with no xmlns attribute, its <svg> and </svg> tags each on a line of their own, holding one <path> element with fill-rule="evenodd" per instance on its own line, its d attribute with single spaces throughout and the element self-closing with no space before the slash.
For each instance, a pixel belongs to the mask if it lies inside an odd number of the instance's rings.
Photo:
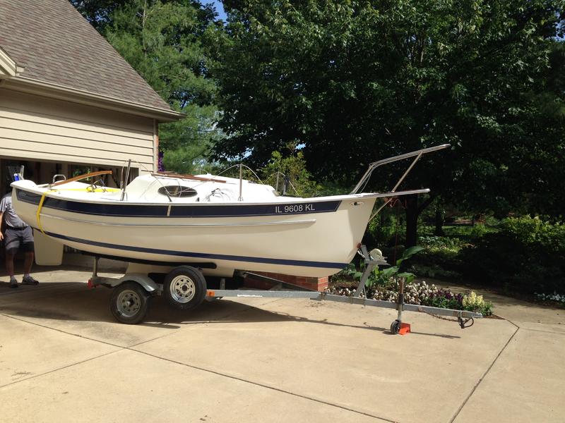
<svg viewBox="0 0 565 423">
<path fill-rule="evenodd" d="M 149 307 L 149 295 L 137 282 L 128 281 L 114 288 L 110 311 L 117 321 L 138 324 L 143 320 Z"/>
</svg>

